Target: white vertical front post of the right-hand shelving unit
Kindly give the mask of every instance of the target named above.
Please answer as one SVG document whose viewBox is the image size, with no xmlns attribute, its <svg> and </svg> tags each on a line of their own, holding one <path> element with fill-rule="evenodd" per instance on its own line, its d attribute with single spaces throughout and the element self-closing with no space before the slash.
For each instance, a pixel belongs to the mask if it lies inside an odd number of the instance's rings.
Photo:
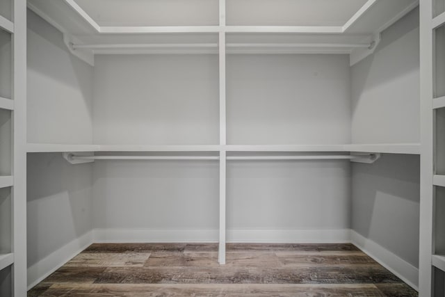
<svg viewBox="0 0 445 297">
<path fill-rule="evenodd" d="M 420 1 L 420 107 L 421 107 L 421 193 L 419 296 L 432 294 L 432 207 L 433 207 L 433 111 L 432 111 L 432 0 Z"/>
</svg>

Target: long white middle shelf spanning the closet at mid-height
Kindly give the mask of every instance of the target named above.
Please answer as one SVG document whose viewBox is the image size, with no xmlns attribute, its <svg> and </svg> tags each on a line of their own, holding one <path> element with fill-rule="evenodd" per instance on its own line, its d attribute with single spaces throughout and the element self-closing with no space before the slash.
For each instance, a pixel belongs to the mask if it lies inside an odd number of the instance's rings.
<svg viewBox="0 0 445 297">
<path fill-rule="evenodd" d="M 418 143 L 369 145 L 61 145 L 28 143 L 28 152 L 370 152 L 420 154 Z"/>
</svg>

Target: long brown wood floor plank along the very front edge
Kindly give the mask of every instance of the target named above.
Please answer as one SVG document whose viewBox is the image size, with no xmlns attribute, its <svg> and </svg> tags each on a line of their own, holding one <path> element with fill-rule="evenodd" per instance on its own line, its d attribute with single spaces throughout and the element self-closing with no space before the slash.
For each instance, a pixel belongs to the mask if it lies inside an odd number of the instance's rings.
<svg viewBox="0 0 445 297">
<path fill-rule="evenodd" d="M 42 296 L 359 297 L 385 296 L 373 284 L 54 284 Z"/>
</svg>

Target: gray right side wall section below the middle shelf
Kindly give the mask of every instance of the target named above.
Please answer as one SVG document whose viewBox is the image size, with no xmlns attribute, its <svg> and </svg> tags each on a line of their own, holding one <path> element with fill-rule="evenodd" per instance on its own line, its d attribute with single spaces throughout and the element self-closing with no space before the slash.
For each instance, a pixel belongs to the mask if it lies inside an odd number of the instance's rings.
<svg viewBox="0 0 445 297">
<path fill-rule="evenodd" d="M 383 154 L 352 165 L 352 229 L 419 267 L 420 158 Z"/>
</svg>

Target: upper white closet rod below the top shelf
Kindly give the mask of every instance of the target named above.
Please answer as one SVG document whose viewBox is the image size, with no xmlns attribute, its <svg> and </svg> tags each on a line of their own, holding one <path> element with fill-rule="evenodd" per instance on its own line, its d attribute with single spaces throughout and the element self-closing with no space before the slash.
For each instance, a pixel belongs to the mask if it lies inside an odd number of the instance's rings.
<svg viewBox="0 0 445 297">
<path fill-rule="evenodd" d="M 374 42 L 360 43 L 227 43 L 231 48 L 372 48 Z M 72 49 L 184 49 L 217 48 L 217 43 L 145 43 L 110 45 L 71 45 Z"/>
</svg>

